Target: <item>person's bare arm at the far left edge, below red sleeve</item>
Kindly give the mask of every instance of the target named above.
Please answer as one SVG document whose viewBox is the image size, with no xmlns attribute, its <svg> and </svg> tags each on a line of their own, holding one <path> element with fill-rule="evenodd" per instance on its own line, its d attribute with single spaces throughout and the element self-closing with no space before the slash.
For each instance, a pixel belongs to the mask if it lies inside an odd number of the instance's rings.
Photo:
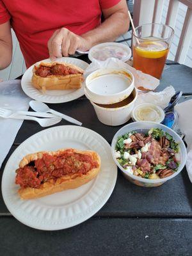
<svg viewBox="0 0 192 256">
<path fill-rule="evenodd" d="M 0 25 L 0 70 L 12 61 L 12 33 L 10 21 Z"/>
</svg>

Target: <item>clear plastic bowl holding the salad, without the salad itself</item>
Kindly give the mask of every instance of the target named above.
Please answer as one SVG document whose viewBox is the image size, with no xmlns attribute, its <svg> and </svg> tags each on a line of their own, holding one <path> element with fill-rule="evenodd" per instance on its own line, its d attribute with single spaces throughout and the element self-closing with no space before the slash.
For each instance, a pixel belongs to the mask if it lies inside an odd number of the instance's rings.
<svg viewBox="0 0 192 256">
<path fill-rule="evenodd" d="M 116 161 L 115 145 L 116 145 L 116 141 L 118 140 L 119 136 L 122 136 L 123 134 L 125 134 L 129 131 L 147 132 L 151 128 L 159 128 L 159 129 L 162 129 L 164 132 L 168 132 L 168 134 L 173 136 L 173 139 L 176 142 L 178 142 L 179 146 L 180 146 L 180 150 L 179 150 L 180 165 L 179 165 L 179 168 L 178 168 L 177 172 L 173 173 L 171 176 L 166 177 L 164 179 L 145 179 L 145 178 L 137 177 L 136 175 L 133 175 L 131 173 L 127 173 L 124 170 L 124 168 L 118 163 L 118 161 Z M 111 150 L 112 150 L 113 159 L 114 159 L 116 165 L 118 166 L 118 168 L 120 168 L 120 170 L 123 173 L 123 175 L 125 176 L 125 178 L 128 179 L 129 181 L 131 181 L 132 183 L 138 185 L 138 186 L 143 186 L 143 187 L 147 187 L 147 188 L 161 186 L 167 180 L 173 179 L 184 168 L 184 166 L 186 164 L 186 160 L 187 160 L 186 147 L 184 145 L 184 142 L 179 137 L 179 135 L 176 132 L 174 132 L 172 129 L 166 127 L 165 125 L 157 124 L 155 122 L 147 122 L 147 121 L 145 121 L 145 122 L 134 122 L 134 123 L 125 125 L 124 127 L 122 127 L 122 129 L 120 129 L 118 132 L 116 132 L 115 136 L 113 137 L 113 141 L 111 143 Z"/>
</svg>

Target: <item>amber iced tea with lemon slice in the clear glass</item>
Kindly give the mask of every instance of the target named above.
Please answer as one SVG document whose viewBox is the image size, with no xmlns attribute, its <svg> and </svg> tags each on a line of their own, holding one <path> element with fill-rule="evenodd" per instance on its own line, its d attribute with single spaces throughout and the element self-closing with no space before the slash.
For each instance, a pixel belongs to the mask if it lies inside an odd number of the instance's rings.
<svg viewBox="0 0 192 256">
<path fill-rule="evenodd" d="M 156 78 L 161 77 L 168 55 L 168 44 L 158 38 L 146 38 L 133 46 L 133 67 Z"/>
</svg>

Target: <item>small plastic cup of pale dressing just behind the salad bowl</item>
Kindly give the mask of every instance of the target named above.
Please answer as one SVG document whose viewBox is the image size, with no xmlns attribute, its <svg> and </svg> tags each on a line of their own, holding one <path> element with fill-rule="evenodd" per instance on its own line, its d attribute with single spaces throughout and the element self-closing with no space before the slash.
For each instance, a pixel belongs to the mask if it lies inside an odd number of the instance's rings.
<svg viewBox="0 0 192 256">
<path fill-rule="evenodd" d="M 164 111 L 159 106 L 150 103 L 143 103 L 132 110 L 134 121 L 150 121 L 161 123 L 164 120 Z"/>
</svg>

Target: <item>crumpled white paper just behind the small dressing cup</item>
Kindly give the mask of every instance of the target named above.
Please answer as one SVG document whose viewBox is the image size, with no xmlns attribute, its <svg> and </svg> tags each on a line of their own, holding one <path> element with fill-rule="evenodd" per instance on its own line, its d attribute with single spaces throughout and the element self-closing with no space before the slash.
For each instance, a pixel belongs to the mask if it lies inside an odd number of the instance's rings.
<svg viewBox="0 0 192 256">
<path fill-rule="evenodd" d="M 164 109 L 168 106 L 168 103 L 174 94 L 175 89 L 173 86 L 168 86 L 161 92 L 138 92 L 138 99 L 136 100 L 135 106 L 145 102 L 155 104 Z"/>
</svg>

